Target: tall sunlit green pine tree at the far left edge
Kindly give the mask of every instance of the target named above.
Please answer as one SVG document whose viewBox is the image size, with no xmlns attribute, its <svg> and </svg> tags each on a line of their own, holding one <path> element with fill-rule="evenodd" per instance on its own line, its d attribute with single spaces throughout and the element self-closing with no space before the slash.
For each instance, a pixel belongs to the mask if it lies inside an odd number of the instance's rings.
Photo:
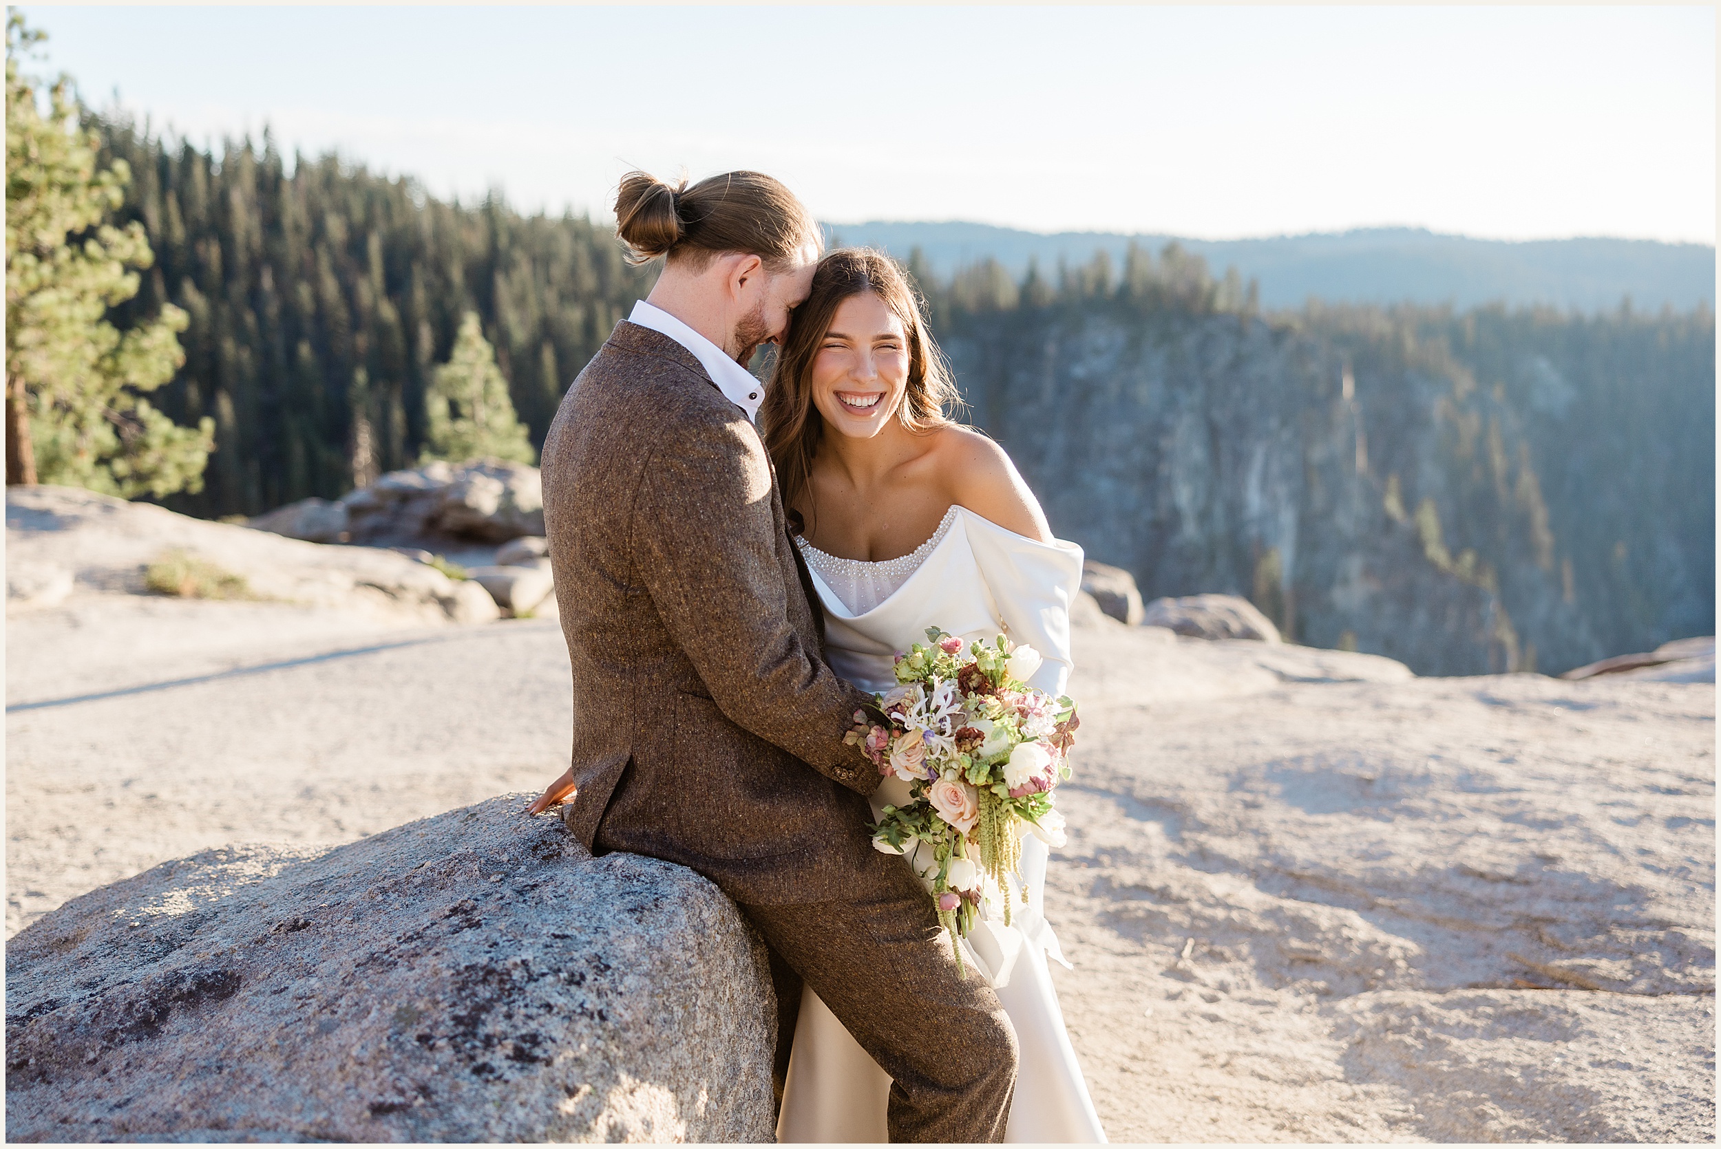
<svg viewBox="0 0 1721 1149">
<path fill-rule="evenodd" d="M 17 57 L 41 38 L 7 15 L 7 483 L 127 499 L 198 490 L 213 421 L 177 427 L 143 397 L 184 361 L 186 315 L 169 304 L 124 332 L 110 322 L 153 255 L 141 224 L 107 222 L 131 170 L 96 170 L 67 81 L 48 88 L 43 115 L 19 74 Z"/>
</svg>

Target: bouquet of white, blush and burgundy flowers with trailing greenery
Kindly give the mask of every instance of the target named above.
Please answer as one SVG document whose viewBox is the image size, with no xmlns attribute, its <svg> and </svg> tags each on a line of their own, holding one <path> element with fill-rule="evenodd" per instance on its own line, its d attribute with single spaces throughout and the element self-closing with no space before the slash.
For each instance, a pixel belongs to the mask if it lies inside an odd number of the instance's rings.
<svg viewBox="0 0 1721 1149">
<path fill-rule="evenodd" d="M 926 640 L 897 655 L 898 685 L 878 695 L 890 728 L 867 726 L 857 712 L 847 741 L 879 774 L 910 784 L 909 805 L 885 807 L 873 845 L 883 853 L 929 846 L 933 862 L 922 876 L 953 941 L 979 920 L 986 879 L 1003 893 L 1009 925 L 1007 877 L 1019 877 L 1024 833 L 1064 845 L 1064 815 L 1052 791 L 1070 776 L 1077 719 L 1074 702 L 1026 685 L 1041 662 L 1033 647 L 998 635 L 964 652 L 960 638 L 936 626 Z"/>
</svg>

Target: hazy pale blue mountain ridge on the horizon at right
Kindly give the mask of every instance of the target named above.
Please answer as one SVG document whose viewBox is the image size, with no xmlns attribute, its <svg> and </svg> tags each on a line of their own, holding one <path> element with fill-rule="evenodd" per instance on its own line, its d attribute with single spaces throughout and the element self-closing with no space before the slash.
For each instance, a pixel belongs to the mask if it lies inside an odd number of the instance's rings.
<svg viewBox="0 0 1721 1149">
<path fill-rule="evenodd" d="M 1329 303 L 1487 303 L 1549 304 L 1559 310 L 1611 311 L 1630 298 L 1637 310 L 1699 303 L 1714 310 L 1716 249 L 1650 239 L 1471 239 L 1416 227 L 1370 227 L 1348 232 L 1265 239 L 1181 239 L 1115 232 L 1039 234 L 990 224 L 826 224 L 843 244 L 883 248 L 907 260 L 919 248 L 938 275 L 988 256 L 1014 277 L 1038 260 L 1045 273 L 1058 261 L 1088 263 L 1105 251 L 1120 267 L 1131 243 L 1155 253 L 1169 243 L 1200 255 L 1215 273 L 1236 267 L 1260 284 L 1263 308 L 1298 308 L 1313 296 Z"/>
</svg>

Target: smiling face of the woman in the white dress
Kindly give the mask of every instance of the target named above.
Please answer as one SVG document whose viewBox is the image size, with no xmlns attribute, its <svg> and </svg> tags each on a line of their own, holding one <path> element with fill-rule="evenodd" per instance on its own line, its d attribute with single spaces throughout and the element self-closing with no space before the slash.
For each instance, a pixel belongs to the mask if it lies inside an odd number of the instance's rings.
<svg viewBox="0 0 1721 1149">
<path fill-rule="evenodd" d="M 824 425 L 850 439 L 885 430 L 909 387 L 909 337 L 897 313 L 871 291 L 836 306 L 812 359 L 812 404 Z"/>
</svg>

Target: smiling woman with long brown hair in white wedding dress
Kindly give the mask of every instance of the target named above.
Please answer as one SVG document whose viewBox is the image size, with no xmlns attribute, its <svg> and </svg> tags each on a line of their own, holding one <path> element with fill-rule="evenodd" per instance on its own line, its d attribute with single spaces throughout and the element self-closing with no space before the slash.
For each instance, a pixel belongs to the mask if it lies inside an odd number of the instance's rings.
<svg viewBox="0 0 1721 1149">
<path fill-rule="evenodd" d="M 824 256 L 783 339 L 761 423 L 824 605 L 826 659 L 857 686 L 883 691 L 895 685 L 891 655 L 924 642 L 928 626 L 964 640 L 1005 633 L 1045 659 L 1029 685 L 1062 695 L 1081 547 L 1052 538 L 1003 449 L 945 416 L 953 399 L 895 263 L 864 249 Z M 873 814 L 907 800 L 907 783 L 886 777 Z M 981 922 L 962 946 L 1021 1048 L 1005 1140 L 1103 1142 L 1046 967 L 1048 956 L 1069 963 L 1041 913 L 1038 838 L 1022 843 L 1021 872 L 1027 906 L 1009 927 L 1002 913 Z M 807 989 L 778 1140 L 883 1142 L 890 1087 Z"/>
</svg>

